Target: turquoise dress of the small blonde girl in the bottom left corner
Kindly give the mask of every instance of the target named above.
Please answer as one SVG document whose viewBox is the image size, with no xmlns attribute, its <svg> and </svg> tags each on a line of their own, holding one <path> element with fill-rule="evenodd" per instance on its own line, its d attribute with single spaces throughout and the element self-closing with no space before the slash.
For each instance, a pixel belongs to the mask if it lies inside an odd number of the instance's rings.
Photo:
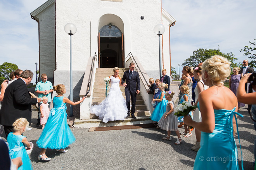
<svg viewBox="0 0 256 170">
<path fill-rule="evenodd" d="M 21 142 L 26 136 L 15 135 L 13 132 L 9 133 L 7 142 L 9 144 L 9 154 L 12 159 L 21 157 L 22 165 L 18 170 L 32 170 L 32 164 L 25 149 L 25 145 Z"/>
</svg>

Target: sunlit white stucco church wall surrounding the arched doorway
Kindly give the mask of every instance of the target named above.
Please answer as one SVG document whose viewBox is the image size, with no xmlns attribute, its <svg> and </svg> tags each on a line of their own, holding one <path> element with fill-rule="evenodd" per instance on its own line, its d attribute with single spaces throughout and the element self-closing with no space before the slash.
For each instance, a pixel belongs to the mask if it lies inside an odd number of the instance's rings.
<svg viewBox="0 0 256 170">
<path fill-rule="evenodd" d="M 69 36 L 64 31 L 65 24 L 72 22 L 77 27 L 76 34 L 72 36 L 73 67 L 85 70 L 88 57 L 97 52 L 99 19 L 105 14 L 117 15 L 123 21 L 124 28 L 120 29 L 124 30 L 125 56 L 131 52 L 140 59 L 145 70 L 157 70 L 158 37 L 153 29 L 161 23 L 160 0 L 76 0 L 76 3 L 56 0 L 57 70 L 69 69 Z M 141 16 L 145 19 L 141 20 Z M 106 21 L 107 24 L 109 22 L 117 25 L 115 20 Z"/>
</svg>

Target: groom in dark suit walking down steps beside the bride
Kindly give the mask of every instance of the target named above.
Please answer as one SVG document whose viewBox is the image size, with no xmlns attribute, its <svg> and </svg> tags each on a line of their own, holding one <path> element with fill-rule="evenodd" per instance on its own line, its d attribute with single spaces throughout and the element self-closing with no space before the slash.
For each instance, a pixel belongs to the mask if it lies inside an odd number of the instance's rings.
<svg viewBox="0 0 256 170">
<path fill-rule="evenodd" d="M 129 70 L 125 71 L 122 83 L 125 87 L 125 97 L 126 97 L 126 106 L 128 109 L 127 117 L 136 119 L 134 116 L 135 113 L 135 106 L 136 106 L 136 97 L 137 94 L 140 93 L 140 77 L 137 71 L 134 71 L 135 64 L 130 63 Z M 130 101 L 131 101 L 131 109 L 130 109 Z"/>
</svg>

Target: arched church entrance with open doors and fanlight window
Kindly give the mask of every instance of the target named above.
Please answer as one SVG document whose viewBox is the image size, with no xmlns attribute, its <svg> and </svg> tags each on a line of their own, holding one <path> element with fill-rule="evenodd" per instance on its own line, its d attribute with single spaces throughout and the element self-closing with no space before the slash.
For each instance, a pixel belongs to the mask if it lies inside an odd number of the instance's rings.
<svg viewBox="0 0 256 170">
<path fill-rule="evenodd" d="M 111 21 L 115 24 L 111 24 Z M 117 15 L 106 14 L 100 18 L 98 32 L 99 68 L 125 66 L 123 31 L 123 21 Z"/>
</svg>

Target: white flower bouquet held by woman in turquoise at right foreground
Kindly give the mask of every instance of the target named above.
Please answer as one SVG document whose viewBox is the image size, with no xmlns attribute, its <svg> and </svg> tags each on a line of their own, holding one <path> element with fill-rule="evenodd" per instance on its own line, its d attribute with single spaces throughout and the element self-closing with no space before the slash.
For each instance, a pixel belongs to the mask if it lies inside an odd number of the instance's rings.
<svg viewBox="0 0 256 170">
<path fill-rule="evenodd" d="M 178 107 L 175 108 L 175 114 L 177 117 L 179 116 L 186 116 L 189 115 L 189 113 L 197 108 L 196 105 L 192 105 L 189 102 L 182 102 L 182 104 L 179 104 Z M 190 128 L 193 128 L 190 126 Z"/>
</svg>

